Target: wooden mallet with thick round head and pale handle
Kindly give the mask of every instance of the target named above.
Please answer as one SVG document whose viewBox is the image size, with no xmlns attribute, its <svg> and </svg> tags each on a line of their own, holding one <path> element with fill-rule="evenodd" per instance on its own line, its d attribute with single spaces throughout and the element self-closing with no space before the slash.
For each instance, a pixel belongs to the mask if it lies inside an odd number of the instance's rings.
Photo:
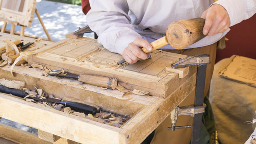
<svg viewBox="0 0 256 144">
<path fill-rule="evenodd" d="M 203 18 L 194 18 L 189 20 L 174 21 L 168 25 L 166 36 L 161 37 L 152 43 L 153 50 L 170 44 L 175 49 L 186 48 L 205 37 L 203 27 L 205 20 Z M 141 48 L 145 53 L 151 52 L 146 48 Z M 122 64 L 125 60 L 117 63 Z"/>
</svg>

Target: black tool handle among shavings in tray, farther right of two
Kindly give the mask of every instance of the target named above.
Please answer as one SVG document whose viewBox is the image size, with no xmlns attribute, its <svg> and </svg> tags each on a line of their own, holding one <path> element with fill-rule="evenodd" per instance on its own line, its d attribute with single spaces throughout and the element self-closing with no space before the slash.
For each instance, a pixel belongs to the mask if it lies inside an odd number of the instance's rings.
<svg viewBox="0 0 256 144">
<path fill-rule="evenodd" d="M 56 104 L 61 104 L 65 107 L 70 107 L 72 110 L 77 112 L 84 112 L 86 115 L 89 113 L 95 115 L 97 113 L 97 108 L 82 103 L 61 101 L 57 102 Z"/>
</svg>

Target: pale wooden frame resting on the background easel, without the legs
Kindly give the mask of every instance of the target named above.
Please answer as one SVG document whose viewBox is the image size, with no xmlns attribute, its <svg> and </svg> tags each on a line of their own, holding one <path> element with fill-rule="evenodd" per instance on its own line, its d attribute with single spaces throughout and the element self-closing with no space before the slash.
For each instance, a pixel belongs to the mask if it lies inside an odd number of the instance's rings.
<svg viewBox="0 0 256 144">
<path fill-rule="evenodd" d="M 0 20 L 12 24 L 16 23 L 17 25 L 31 26 L 36 4 L 36 0 L 0 0 Z"/>
</svg>

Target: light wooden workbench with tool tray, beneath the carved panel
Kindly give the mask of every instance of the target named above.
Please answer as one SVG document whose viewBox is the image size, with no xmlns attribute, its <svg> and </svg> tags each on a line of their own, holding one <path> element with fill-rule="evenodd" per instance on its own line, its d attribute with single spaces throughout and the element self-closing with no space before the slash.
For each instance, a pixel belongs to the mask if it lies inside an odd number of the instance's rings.
<svg viewBox="0 0 256 144">
<path fill-rule="evenodd" d="M 0 40 L 17 38 L 30 42 L 35 41 L 27 37 L 3 33 L 0 35 Z M 49 45 L 55 45 L 54 43 L 43 43 L 36 43 L 36 49 L 37 47 L 44 49 L 50 47 Z M 47 46 L 43 47 L 43 45 Z M 0 117 L 38 129 L 41 139 L 35 135 L 23 133 L 23 136 L 26 135 L 29 139 L 17 140 L 19 134 L 8 135 L 8 133 L 21 132 L 3 125 L 0 125 L 0 137 L 26 144 L 39 142 L 139 144 L 195 89 L 196 79 L 195 67 L 191 67 L 188 75 L 183 79 L 180 79 L 177 73 L 165 72 L 164 77 L 173 80 L 172 84 L 168 84 L 166 87 L 175 87 L 168 91 L 170 94 L 163 93 L 164 96 L 131 94 L 123 97 L 123 92 L 118 90 L 102 89 L 73 79 L 45 76 L 44 71 L 29 68 L 29 66 L 14 66 L 13 72 L 14 76 L 11 75 L 10 66 L 4 66 L 0 68 L 0 78 L 24 81 L 25 87 L 28 89 L 34 89 L 36 86 L 43 89 L 44 92 L 62 99 L 93 103 L 101 108 L 131 117 L 125 124 L 117 128 L 0 93 Z M 161 77 L 161 75 L 156 77 Z M 154 94 L 153 91 L 151 93 Z"/>
</svg>

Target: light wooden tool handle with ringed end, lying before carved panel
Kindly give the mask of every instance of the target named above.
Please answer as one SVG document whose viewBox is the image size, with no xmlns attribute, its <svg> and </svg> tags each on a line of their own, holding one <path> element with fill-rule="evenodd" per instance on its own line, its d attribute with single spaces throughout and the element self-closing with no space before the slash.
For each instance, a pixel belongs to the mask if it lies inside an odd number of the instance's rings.
<svg viewBox="0 0 256 144">
<path fill-rule="evenodd" d="M 89 74 L 80 74 L 78 81 L 84 82 L 86 84 L 91 84 L 99 87 L 105 87 L 110 89 L 116 89 L 117 79 L 109 78 L 105 76 L 98 75 L 89 75 Z"/>
</svg>

